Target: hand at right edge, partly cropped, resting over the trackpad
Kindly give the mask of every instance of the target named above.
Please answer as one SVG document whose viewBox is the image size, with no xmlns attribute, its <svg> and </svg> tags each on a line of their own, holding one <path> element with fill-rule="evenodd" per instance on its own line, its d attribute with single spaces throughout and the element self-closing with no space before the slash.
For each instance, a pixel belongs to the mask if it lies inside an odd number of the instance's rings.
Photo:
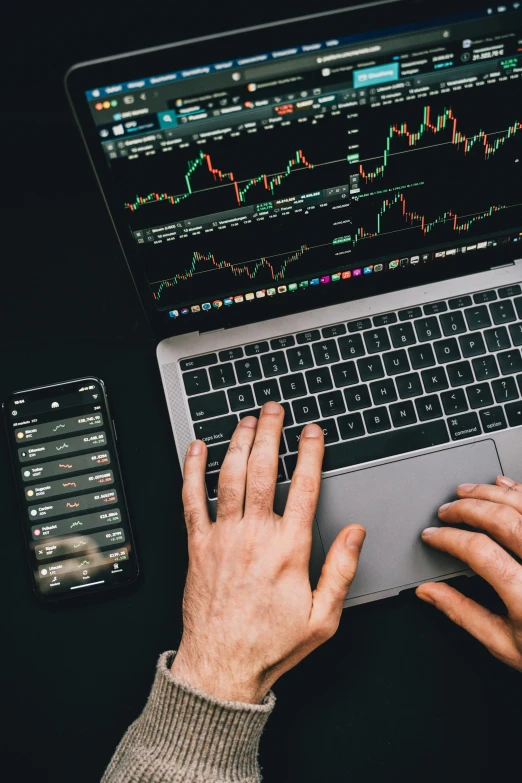
<svg viewBox="0 0 522 783">
<path fill-rule="evenodd" d="M 420 585 L 417 595 L 469 631 L 496 658 L 522 671 L 522 566 L 505 551 L 522 557 L 522 485 L 498 476 L 494 485 L 461 484 L 457 495 L 460 500 L 440 507 L 440 519 L 465 522 L 483 532 L 431 527 L 422 538 L 464 560 L 489 582 L 504 601 L 507 616 L 493 614 L 442 582 Z"/>
</svg>

